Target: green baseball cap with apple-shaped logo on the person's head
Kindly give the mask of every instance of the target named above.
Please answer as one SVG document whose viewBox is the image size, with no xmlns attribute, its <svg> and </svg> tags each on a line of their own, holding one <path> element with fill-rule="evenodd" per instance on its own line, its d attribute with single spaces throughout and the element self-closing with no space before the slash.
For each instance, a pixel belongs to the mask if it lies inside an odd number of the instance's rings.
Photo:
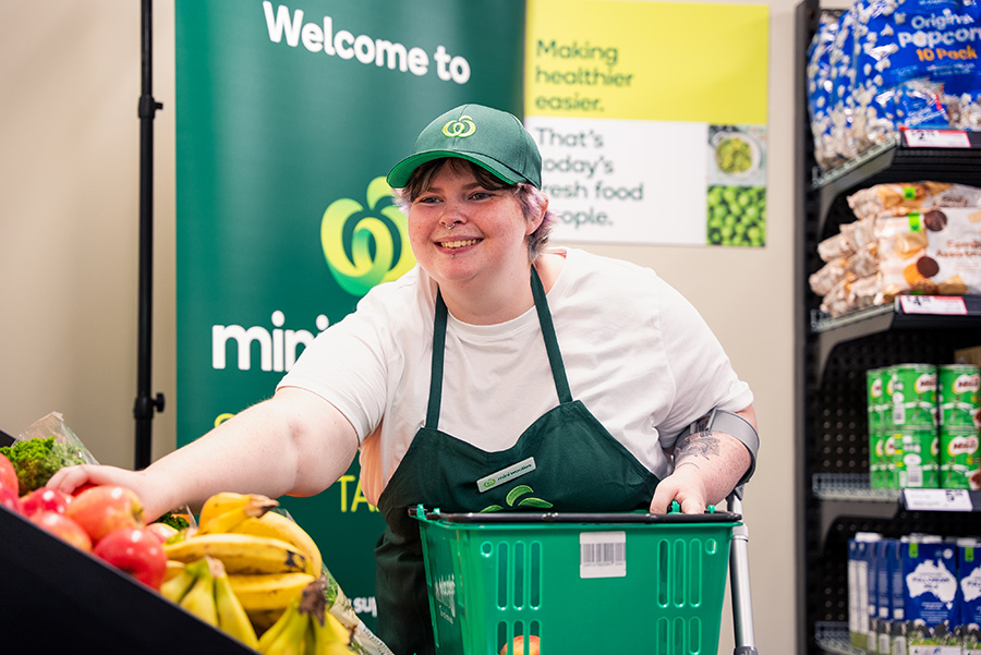
<svg viewBox="0 0 981 655">
<path fill-rule="evenodd" d="M 444 157 L 473 161 L 509 184 L 542 186 L 538 146 L 518 117 L 507 111 L 483 105 L 462 105 L 447 111 L 420 133 L 412 155 L 391 169 L 389 186 L 405 186 L 412 171 Z"/>
</svg>

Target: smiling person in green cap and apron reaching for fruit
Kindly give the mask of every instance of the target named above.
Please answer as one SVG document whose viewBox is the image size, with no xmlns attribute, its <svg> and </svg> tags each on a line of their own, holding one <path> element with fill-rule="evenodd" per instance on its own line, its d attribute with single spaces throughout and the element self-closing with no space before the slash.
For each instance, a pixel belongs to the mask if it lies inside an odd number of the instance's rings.
<svg viewBox="0 0 981 655">
<path fill-rule="evenodd" d="M 541 174 L 514 116 L 464 105 L 438 117 L 388 175 L 414 268 L 317 336 L 271 398 L 143 471 L 82 465 L 50 484 L 123 484 L 158 515 L 222 490 L 314 495 L 360 453 L 386 521 L 377 634 L 397 655 L 434 652 L 407 508 L 513 511 L 533 498 L 536 511 L 678 501 L 699 513 L 722 501 L 754 466 L 752 439 L 731 434 L 755 436 L 749 386 L 653 270 L 548 245 Z M 519 484 L 533 494 L 510 497 Z"/>
</svg>

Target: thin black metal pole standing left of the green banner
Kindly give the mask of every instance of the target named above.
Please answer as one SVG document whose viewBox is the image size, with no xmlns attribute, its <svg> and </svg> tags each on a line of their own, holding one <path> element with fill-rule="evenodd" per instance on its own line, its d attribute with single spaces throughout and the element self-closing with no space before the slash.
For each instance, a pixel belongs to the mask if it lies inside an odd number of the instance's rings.
<svg viewBox="0 0 981 655">
<path fill-rule="evenodd" d="M 150 397 L 153 367 L 153 276 L 154 276 L 154 118 L 164 105 L 153 97 L 153 3 L 143 0 L 142 21 L 142 93 L 140 117 L 140 282 L 136 402 L 136 469 L 150 463 L 154 412 L 164 411 L 164 395 Z"/>
</svg>

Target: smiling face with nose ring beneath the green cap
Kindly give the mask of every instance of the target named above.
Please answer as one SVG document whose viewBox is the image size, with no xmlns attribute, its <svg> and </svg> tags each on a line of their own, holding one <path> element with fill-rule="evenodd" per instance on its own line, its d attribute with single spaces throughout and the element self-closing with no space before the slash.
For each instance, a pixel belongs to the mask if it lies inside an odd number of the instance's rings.
<svg viewBox="0 0 981 655">
<path fill-rule="evenodd" d="M 528 288 L 528 220 L 512 186 L 482 183 L 470 166 L 448 159 L 409 206 L 409 240 L 420 266 L 444 290 L 489 293 Z M 449 229 L 452 227 L 452 229 Z"/>
</svg>

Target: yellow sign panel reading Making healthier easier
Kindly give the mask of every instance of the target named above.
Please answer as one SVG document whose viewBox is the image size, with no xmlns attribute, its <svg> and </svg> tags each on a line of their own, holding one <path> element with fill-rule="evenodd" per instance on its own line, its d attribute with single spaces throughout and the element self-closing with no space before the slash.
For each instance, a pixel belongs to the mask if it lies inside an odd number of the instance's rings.
<svg viewBox="0 0 981 655">
<path fill-rule="evenodd" d="M 765 124 L 768 8 L 529 0 L 525 113 Z"/>
</svg>

